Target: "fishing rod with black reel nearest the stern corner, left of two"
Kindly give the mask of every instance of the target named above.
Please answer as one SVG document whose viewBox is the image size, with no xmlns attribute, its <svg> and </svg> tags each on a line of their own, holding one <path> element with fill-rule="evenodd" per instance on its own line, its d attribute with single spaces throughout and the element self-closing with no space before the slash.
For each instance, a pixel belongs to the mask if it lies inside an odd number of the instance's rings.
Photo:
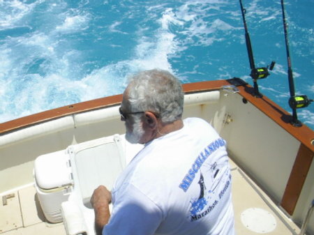
<svg viewBox="0 0 314 235">
<path fill-rule="evenodd" d="M 243 24 L 244 24 L 244 30 L 245 30 L 245 37 L 246 37 L 246 49 L 248 51 L 248 61 L 250 62 L 250 68 L 251 68 L 251 74 L 250 76 L 253 78 L 253 86 L 254 86 L 254 96 L 257 98 L 262 98 L 262 94 L 258 90 L 258 84 L 257 84 L 257 79 L 263 79 L 268 77 L 269 70 L 273 70 L 275 66 L 275 61 L 271 62 L 270 66 L 262 67 L 262 68 L 255 68 L 255 63 L 254 63 L 254 56 L 253 56 L 253 50 L 252 50 L 252 45 L 251 45 L 251 39 L 250 35 L 248 34 L 248 27 L 246 26 L 246 9 L 244 9 L 242 5 L 242 1 L 240 0 L 240 6 L 241 6 L 241 13 L 242 13 L 242 19 L 243 19 Z"/>
</svg>

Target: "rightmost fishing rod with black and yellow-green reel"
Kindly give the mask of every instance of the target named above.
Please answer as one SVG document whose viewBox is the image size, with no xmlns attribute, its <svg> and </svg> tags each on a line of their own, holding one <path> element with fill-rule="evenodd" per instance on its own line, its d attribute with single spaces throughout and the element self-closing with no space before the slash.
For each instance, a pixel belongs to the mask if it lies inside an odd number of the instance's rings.
<svg viewBox="0 0 314 235">
<path fill-rule="evenodd" d="M 285 33 L 285 50 L 287 51 L 287 75 L 289 81 L 289 89 L 290 89 L 290 99 L 289 105 L 292 108 L 292 121 L 291 124 L 296 127 L 302 126 L 302 123 L 298 120 L 297 109 L 302 107 L 308 107 L 313 100 L 309 99 L 308 96 L 295 96 L 294 91 L 294 82 L 293 82 L 293 73 L 290 59 L 290 50 L 289 50 L 289 41 L 287 36 L 287 23 L 285 20 L 285 6 L 283 0 L 281 0 L 281 10 L 283 12 L 283 31 Z"/>
</svg>

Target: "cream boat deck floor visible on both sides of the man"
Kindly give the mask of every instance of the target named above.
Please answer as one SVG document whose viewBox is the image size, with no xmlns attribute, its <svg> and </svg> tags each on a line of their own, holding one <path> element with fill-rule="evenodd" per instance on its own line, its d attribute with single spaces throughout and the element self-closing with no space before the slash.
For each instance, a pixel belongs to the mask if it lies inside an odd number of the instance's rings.
<svg viewBox="0 0 314 235">
<path fill-rule="evenodd" d="M 234 162 L 231 162 L 231 165 L 236 233 L 238 235 L 299 234 L 299 227 L 278 210 L 267 195 Z M 36 197 L 36 190 L 33 185 L 28 185 L 12 192 L 8 196 L 6 205 L 1 203 L 0 234 L 63 235 L 66 234 L 66 231 L 63 223 L 45 222 L 45 217 L 40 210 Z"/>
</svg>

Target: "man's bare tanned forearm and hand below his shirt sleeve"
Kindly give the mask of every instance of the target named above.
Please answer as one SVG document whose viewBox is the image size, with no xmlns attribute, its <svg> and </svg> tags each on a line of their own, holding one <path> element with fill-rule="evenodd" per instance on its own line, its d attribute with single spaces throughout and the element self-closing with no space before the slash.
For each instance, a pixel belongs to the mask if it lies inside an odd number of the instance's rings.
<svg viewBox="0 0 314 235">
<path fill-rule="evenodd" d="M 109 204 L 111 202 L 111 192 L 100 185 L 94 190 L 91 196 L 91 205 L 95 211 L 95 230 L 97 235 L 103 233 L 103 227 L 107 225 L 110 219 Z"/>
</svg>

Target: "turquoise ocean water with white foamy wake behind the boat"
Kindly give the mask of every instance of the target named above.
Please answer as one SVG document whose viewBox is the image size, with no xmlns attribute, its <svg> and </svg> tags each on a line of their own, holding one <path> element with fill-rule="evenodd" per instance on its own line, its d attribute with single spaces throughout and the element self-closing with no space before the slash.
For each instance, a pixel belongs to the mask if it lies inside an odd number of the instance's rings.
<svg viewBox="0 0 314 235">
<path fill-rule="evenodd" d="M 280 0 L 243 0 L 260 92 L 288 112 Z M 313 0 L 285 0 L 296 93 L 314 98 Z M 124 91 L 139 70 L 253 84 L 237 0 L 0 0 L 0 123 Z M 298 109 L 314 128 L 314 104 Z"/>
</svg>

